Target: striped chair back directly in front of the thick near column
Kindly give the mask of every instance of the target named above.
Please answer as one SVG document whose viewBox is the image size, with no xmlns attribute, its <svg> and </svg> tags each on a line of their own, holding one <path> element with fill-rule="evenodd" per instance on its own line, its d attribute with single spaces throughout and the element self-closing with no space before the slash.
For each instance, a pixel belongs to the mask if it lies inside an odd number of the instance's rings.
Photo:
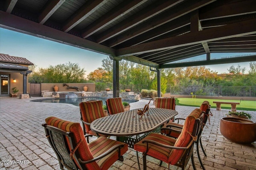
<svg viewBox="0 0 256 170">
<path fill-rule="evenodd" d="M 106 100 L 108 114 L 114 115 L 116 113 L 124 112 L 122 98 L 109 98 Z"/>
</svg>

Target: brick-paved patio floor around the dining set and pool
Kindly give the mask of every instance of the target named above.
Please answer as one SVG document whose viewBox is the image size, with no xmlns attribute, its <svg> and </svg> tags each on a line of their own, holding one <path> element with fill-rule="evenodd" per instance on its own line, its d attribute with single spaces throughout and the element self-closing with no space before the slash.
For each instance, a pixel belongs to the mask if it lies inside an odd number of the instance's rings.
<svg viewBox="0 0 256 170">
<path fill-rule="evenodd" d="M 30 102 L 38 98 L 0 98 L 0 170 L 60 170 L 58 160 L 41 126 L 48 116 L 56 116 L 65 120 L 80 122 L 79 107 L 72 104 L 55 104 Z M 155 107 L 150 102 L 150 107 Z M 140 100 L 130 104 L 130 109 L 142 108 L 148 100 Z M 189 106 L 176 106 L 178 116 L 186 117 L 194 108 Z M 256 142 L 250 145 L 241 145 L 228 141 L 219 131 L 221 117 L 226 117 L 228 109 L 217 111 L 211 109 L 208 129 L 202 133 L 202 143 L 207 157 L 200 151 L 200 156 L 206 170 L 256 170 Z M 256 121 L 256 111 L 246 111 Z M 81 123 L 81 122 L 80 122 Z M 239 129 L 238 129 L 239 130 Z M 250 129 L 248 129 L 250 130 Z M 114 137 L 111 137 L 114 139 Z M 95 140 L 96 137 L 90 138 Z M 194 152 L 196 152 L 194 147 Z M 142 168 L 142 154 L 140 167 Z M 194 154 L 197 170 L 201 170 L 197 154 Z M 18 162 L 17 161 L 22 161 Z M 3 161 L 12 164 L 2 164 Z M 158 166 L 159 160 L 147 157 L 148 170 L 167 170 L 167 164 Z M 137 170 L 136 152 L 128 149 L 124 154 L 124 162 L 116 161 L 110 170 Z M 170 166 L 171 170 L 181 169 Z M 186 169 L 192 170 L 191 161 Z"/>
</svg>

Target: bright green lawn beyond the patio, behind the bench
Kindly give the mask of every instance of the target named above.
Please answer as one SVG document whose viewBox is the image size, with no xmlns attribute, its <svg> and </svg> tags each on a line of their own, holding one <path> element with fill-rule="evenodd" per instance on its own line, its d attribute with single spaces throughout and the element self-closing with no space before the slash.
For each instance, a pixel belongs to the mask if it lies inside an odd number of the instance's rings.
<svg viewBox="0 0 256 170">
<path fill-rule="evenodd" d="M 225 101 L 225 102 L 240 102 L 240 100 L 219 100 L 219 99 L 192 99 L 192 98 L 176 98 L 176 105 L 179 106 L 196 106 L 200 107 L 202 102 L 207 100 L 211 108 L 216 108 L 216 104 L 213 103 L 213 101 Z M 230 104 L 221 104 L 220 107 L 222 109 L 230 109 L 231 110 L 231 105 Z M 251 110 L 251 111 L 256 111 L 256 101 L 241 101 L 240 105 L 236 105 L 237 110 Z"/>
</svg>

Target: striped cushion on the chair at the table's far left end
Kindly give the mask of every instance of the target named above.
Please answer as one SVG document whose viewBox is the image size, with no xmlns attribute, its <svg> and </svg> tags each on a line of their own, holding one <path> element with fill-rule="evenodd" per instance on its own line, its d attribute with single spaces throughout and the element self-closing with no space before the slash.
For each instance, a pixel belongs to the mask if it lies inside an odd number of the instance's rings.
<svg viewBox="0 0 256 170">
<path fill-rule="evenodd" d="M 81 102 L 79 106 L 80 106 L 80 112 L 82 113 L 83 121 L 86 121 L 88 123 L 92 123 L 92 121 L 94 121 L 95 119 L 105 116 L 102 100 Z M 86 128 L 86 133 L 93 134 L 91 132 L 89 125 L 85 125 L 85 128 Z"/>
</svg>

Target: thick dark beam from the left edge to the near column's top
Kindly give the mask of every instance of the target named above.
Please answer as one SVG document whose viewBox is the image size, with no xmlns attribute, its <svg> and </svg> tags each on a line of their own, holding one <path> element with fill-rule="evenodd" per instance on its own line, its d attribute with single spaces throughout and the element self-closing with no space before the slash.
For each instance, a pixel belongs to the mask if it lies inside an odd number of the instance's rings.
<svg viewBox="0 0 256 170">
<path fill-rule="evenodd" d="M 81 49 L 115 56 L 115 50 L 112 48 L 88 41 L 81 37 L 76 37 L 69 33 L 65 33 L 40 23 L 8 14 L 3 11 L 0 11 L 0 27 L 28 35 L 33 35 L 35 37 L 48 39 L 50 41 L 71 45 Z"/>
</svg>

